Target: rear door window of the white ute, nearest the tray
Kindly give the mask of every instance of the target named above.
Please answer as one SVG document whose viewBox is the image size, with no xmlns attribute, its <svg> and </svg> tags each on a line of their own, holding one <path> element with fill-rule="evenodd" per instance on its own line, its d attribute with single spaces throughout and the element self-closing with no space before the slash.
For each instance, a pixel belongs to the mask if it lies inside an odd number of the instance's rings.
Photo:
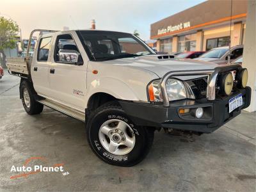
<svg viewBox="0 0 256 192">
<path fill-rule="evenodd" d="M 37 60 L 38 61 L 47 61 L 48 60 L 48 54 L 49 49 L 51 45 L 51 37 L 41 38 L 39 47 L 38 47 L 38 53 L 37 53 Z"/>
</svg>

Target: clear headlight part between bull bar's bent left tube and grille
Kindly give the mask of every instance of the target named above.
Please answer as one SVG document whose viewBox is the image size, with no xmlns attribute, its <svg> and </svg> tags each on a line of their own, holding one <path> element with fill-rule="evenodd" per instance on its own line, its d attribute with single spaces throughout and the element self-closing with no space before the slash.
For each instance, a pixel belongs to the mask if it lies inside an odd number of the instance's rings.
<svg viewBox="0 0 256 192">
<path fill-rule="evenodd" d="M 186 99 L 185 86 L 178 79 L 168 79 L 166 81 L 166 91 L 169 100 Z"/>
</svg>

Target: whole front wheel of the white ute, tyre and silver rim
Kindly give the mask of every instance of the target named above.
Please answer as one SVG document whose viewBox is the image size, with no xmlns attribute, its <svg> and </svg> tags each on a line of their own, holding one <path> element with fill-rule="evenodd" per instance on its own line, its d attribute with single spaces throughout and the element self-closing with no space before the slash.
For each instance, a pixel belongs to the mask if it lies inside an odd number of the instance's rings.
<svg viewBox="0 0 256 192">
<path fill-rule="evenodd" d="M 154 140 L 154 129 L 134 125 L 116 102 L 93 111 L 86 128 L 93 152 L 106 163 L 116 166 L 140 163 Z"/>
</svg>

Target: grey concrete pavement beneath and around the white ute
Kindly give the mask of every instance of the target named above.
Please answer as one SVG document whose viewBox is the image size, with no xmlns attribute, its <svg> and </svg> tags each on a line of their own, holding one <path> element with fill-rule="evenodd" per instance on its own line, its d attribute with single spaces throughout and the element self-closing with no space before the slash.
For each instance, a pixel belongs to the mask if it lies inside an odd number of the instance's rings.
<svg viewBox="0 0 256 192">
<path fill-rule="evenodd" d="M 47 107 L 29 116 L 19 81 L 0 80 L 0 191 L 256 191 L 256 113 L 195 140 L 156 132 L 146 159 L 120 168 L 93 154 L 83 122 Z M 28 164 L 62 164 L 65 175 L 11 172 Z"/>
</svg>

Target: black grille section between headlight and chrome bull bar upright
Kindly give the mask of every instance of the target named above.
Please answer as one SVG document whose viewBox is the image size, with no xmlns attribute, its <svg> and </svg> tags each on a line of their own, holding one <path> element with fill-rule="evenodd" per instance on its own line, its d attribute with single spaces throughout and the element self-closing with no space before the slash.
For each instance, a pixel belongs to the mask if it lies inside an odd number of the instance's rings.
<svg viewBox="0 0 256 192">
<path fill-rule="evenodd" d="M 188 80 L 187 83 L 189 84 L 196 99 L 206 96 L 207 77 L 203 77 L 200 79 L 191 79 L 191 80 Z"/>
</svg>

